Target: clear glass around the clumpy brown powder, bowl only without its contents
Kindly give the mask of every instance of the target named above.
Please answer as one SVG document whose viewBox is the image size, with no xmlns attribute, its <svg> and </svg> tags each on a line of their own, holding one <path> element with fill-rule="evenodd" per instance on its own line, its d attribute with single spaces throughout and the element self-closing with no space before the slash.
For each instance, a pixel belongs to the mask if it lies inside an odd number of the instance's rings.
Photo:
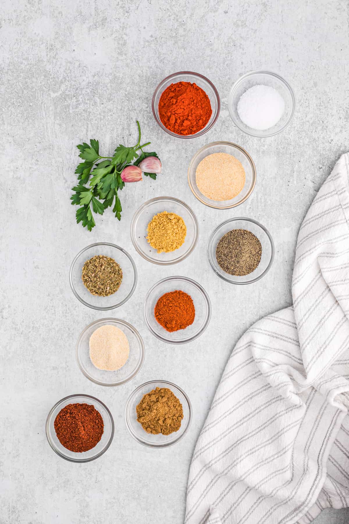
<svg viewBox="0 0 349 524">
<path fill-rule="evenodd" d="M 183 406 L 183 419 L 181 427 L 178 431 L 174 431 L 170 435 L 157 434 L 153 435 L 152 433 L 147 433 L 144 431 L 141 424 L 137 422 L 137 412 L 136 407 L 142 400 L 143 396 L 149 393 L 152 389 L 158 388 L 168 388 L 171 389 L 173 394 L 178 398 Z M 167 382 L 166 380 L 151 380 L 146 382 L 141 386 L 138 386 L 128 398 L 125 406 L 125 423 L 126 427 L 137 442 L 148 447 L 168 447 L 172 446 L 179 440 L 183 438 L 190 427 L 192 422 L 192 405 L 190 400 L 180 387 L 172 384 L 172 382 Z"/>
</svg>

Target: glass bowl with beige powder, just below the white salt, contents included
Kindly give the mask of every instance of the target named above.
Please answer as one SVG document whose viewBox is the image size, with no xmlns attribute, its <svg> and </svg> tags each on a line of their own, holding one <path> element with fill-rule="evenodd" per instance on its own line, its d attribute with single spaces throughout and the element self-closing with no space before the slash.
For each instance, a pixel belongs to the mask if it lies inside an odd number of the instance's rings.
<svg viewBox="0 0 349 524">
<path fill-rule="evenodd" d="M 230 209 L 251 195 L 256 183 L 256 167 L 241 146 L 232 142 L 212 142 L 201 147 L 190 161 L 188 183 L 202 204 Z"/>
</svg>

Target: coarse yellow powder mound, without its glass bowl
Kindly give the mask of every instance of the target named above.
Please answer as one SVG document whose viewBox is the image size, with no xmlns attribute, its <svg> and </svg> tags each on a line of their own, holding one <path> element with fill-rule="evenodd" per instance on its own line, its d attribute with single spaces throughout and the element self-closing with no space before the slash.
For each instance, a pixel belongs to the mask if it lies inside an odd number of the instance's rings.
<svg viewBox="0 0 349 524">
<path fill-rule="evenodd" d="M 182 216 L 163 211 L 153 216 L 147 233 L 147 240 L 157 253 L 170 253 L 182 246 L 187 228 Z"/>
</svg>

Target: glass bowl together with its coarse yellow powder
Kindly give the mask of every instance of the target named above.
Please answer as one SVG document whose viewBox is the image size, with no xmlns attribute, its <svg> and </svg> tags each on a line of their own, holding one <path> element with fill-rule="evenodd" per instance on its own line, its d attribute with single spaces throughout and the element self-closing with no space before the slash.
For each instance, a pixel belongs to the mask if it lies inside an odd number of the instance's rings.
<svg viewBox="0 0 349 524">
<path fill-rule="evenodd" d="M 168 266 L 184 260 L 195 248 L 199 224 L 187 204 L 160 196 L 145 202 L 131 221 L 131 240 L 149 262 Z"/>
</svg>

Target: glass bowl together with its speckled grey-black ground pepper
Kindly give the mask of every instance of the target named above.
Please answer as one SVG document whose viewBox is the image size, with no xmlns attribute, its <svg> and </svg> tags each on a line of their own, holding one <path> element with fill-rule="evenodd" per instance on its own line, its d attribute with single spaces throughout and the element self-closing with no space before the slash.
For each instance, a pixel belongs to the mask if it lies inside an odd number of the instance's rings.
<svg viewBox="0 0 349 524">
<path fill-rule="evenodd" d="M 220 278 L 233 284 L 250 284 L 271 268 L 274 242 L 262 224 L 238 217 L 216 227 L 208 242 L 207 255 Z"/>
</svg>

